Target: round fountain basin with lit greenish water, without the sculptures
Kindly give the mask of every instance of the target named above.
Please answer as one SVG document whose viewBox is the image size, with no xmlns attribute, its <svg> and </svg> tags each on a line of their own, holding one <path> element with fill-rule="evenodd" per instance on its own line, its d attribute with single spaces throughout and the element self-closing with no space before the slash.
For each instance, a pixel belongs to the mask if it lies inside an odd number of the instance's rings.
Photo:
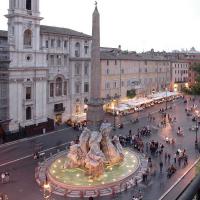
<svg viewBox="0 0 200 200">
<path fill-rule="evenodd" d="M 85 170 L 64 169 L 66 152 L 59 153 L 38 168 L 36 180 L 42 184 L 44 173 L 52 187 L 52 192 L 68 197 L 97 197 L 122 192 L 141 180 L 142 170 L 146 170 L 144 157 L 130 149 L 124 149 L 124 161 L 115 166 L 106 166 L 102 176 L 92 179 Z M 43 174 L 43 175 L 42 175 Z"/>
</svg>

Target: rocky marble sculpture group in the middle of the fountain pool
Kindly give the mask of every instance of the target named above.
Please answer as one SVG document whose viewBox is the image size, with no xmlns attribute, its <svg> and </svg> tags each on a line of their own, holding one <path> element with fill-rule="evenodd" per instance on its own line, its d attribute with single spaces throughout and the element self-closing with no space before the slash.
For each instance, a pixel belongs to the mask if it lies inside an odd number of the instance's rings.
<svg viewBox="0 0 200 200">
<path fill-rule="evenodd" d="M 118 136 L 114 136 L 111 141 L 111 130 L 109 123 L 103 123 L 100 131 L 85 128 L 79 144 L 71 145 L 64 168 L 82 168 L 88 176 L 94 178 L 104 173 L 105 165 L 121 163 L 124 159 L 123 148 Z"/>
</svg>

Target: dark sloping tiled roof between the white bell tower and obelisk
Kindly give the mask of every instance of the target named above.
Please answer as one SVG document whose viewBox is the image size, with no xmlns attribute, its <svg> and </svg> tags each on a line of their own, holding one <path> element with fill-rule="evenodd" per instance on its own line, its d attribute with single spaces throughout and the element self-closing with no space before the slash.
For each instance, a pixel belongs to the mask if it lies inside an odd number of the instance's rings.
<svg viewBox="0 0 200 200">
<path fill-rule="evenodd" d="M 41 25 L 40 32 L 91 38 L 90 35 L 84 34 L 82 32 L 74 31 L 74 30 L 68 29 L 68 28 L 60 28 L 60 27 L 54 27 L 54 26 Z"/>
</svg>

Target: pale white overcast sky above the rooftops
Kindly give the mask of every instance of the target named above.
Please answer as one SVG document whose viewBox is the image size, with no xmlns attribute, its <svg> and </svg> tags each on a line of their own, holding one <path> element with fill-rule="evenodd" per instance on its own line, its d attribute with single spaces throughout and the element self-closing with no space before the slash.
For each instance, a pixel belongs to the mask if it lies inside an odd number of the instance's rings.
<svg viewBox="0 0 200 200">
<path fill-rule="evenodd" d="M 97 0 L 101 46 L 129 51 L 200 50 L 200 0 Z M 0 0 L 0 29 L 7 30 L 9 0 Z M 94 0 L 40 0 L 43 25 L 90 34 Z"/>
</svg>

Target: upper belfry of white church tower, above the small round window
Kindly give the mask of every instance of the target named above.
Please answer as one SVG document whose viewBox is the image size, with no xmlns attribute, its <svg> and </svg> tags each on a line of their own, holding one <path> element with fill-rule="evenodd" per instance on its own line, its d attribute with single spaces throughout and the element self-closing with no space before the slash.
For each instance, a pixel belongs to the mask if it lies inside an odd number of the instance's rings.
<svg viewBox="0 0 200 200">
<path fill-rule="evenodd" d="M 39 0 L 9 0 L 6 17 L 10 50 L 39 50 Z"/>
</svg>

